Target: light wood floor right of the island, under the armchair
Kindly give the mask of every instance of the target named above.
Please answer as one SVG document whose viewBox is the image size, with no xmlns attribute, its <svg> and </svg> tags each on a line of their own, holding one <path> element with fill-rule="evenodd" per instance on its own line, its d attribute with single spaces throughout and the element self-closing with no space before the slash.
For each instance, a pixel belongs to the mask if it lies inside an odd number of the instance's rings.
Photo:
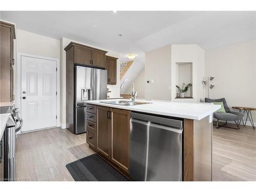
<svg viewBox="0 0 256 192">
<path fill-rule="evenodd" d="M 256 130 L 251 126 L 240 130 L 214 126 L 212 180 L 256 181 Z"/>
</svg>

